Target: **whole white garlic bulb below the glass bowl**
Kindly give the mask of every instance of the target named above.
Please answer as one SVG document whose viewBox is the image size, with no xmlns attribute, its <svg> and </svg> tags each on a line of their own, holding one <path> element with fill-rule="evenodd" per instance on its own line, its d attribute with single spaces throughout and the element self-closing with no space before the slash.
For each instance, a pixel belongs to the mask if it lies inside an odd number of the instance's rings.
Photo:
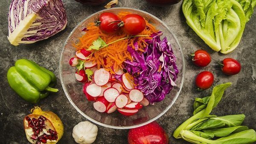
<svg viewBox="0 0 256 144">
<path fill-rule="evenodd" d="M 72 136 L 79 144 L 91 144 L 98 134 L 98 127 L 89 121 L 81 121 L 74 128 Z"/>
</svg>

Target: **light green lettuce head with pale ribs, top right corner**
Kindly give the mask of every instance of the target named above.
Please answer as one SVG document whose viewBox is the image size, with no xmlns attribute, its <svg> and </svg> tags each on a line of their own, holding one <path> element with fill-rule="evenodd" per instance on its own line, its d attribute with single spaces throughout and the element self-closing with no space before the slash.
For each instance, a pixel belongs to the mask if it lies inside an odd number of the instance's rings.
<svg viewBox="0 0 256 144">
<path fill-rule="evenodd" d="M 183 0 L 182 10 L 210 48 L 227 54 L 239 44 L 255 5 L 255 0 Z"/>
</svg>

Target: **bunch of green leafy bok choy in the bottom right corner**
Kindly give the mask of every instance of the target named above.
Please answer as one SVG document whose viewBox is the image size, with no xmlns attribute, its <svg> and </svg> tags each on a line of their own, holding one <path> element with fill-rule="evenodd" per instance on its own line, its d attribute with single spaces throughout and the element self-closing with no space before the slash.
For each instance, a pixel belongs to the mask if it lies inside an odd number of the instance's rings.
<svg viewBox="0 0 256 144">
<path fill-rule="evenodd" d="M 241 126 L 245 118 L 244 114 L 210 115 L 212 109 L 220 102 L 224 90 L 230 85 L 230 82 L 217 85 L 213 88 L 211 96 L 196 98 L 194 116 L 177 127 L 173 136 L 194 144 L 250 144 L 255 142 L 256 132 L 248 130 L 246 126 Z"/>
</svg>

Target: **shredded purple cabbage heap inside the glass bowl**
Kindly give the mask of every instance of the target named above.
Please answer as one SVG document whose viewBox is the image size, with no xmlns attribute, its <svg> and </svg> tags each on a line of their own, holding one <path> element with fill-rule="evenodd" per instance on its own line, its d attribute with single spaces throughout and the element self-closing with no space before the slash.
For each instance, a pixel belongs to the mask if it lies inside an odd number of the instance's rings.
<svg viewBox="0 0 256 144">
<path fill-rule="evenodd" d="M 166 37 L 160 40 L 162 31 L 151 35 L 153 39 L 145 40 L 148 45 L 145 52 L 139 53 L 128 46 L 133 61 L 125 61 L 125 69 L 134 76 L 137 88 L 144 93 L 148 101 L 162 101 L 170 93 L 179 73 L 176 57 Z"/>
</svg>

